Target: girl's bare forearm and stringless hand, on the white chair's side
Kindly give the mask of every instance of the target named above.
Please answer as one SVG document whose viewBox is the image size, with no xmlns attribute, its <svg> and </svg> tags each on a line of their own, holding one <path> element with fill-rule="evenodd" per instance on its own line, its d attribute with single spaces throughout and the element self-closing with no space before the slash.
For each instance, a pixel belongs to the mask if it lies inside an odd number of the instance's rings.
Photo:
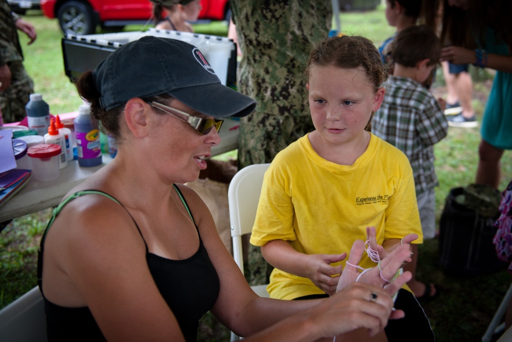
<svg viewBox="0 0 512 342">
<path fill-rule="evenodd" d="M 261 246 L 261 253 L 270 265 L 290 274 L 310 279 L 319 289 L 331 295 L 336 292 L 342 265 L 337 263 L 347 257 L 342 254 L 304 254 L 297 252 L 284 240 L 272 240 Z"/>
</svg>

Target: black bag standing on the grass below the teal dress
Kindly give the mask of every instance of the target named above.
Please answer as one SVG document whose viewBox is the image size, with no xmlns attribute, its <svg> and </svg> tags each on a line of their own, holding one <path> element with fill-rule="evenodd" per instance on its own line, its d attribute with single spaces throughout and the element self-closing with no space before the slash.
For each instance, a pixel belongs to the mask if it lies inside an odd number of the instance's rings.
<svg viewBox="0 0 512 342">
<path fill-rule="evenodd" d="M 500 193 L 481 185 L 454 188 L 439 222 L 439 266 L 444 271 L 480 275 L 504 269 L 493 238 Z"/>
</svg>

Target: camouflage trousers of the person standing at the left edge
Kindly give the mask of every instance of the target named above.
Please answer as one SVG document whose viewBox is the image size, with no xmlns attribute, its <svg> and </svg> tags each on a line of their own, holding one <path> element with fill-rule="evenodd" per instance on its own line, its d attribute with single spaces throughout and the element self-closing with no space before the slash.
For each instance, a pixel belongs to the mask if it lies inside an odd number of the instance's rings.
<svg viewBox="0 0 512 342">
<path fill-rule="evenodd" d="M 34 82 L 22 62 L 9 62 L 11 86 L 0 93 L 0 110 L 5 124 L 21 121 L 27 116 L 25 105 L 34 92 Z"/>
</svg>

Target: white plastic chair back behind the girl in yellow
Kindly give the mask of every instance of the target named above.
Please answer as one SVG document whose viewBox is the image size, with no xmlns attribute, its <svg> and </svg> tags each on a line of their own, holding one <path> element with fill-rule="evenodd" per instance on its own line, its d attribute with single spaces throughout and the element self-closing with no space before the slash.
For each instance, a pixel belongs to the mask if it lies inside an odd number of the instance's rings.
<svg viewBox="0 0 512 342">
<path fill-rule="evenodd" d="M 229 222 L 233 240 L 233 258 L 242 273 L 242 235 L 252 231 L 260 200 L 263 175 L 270 164 L 249 165 L 238 171 L 228 188 Z"/>
</svg>

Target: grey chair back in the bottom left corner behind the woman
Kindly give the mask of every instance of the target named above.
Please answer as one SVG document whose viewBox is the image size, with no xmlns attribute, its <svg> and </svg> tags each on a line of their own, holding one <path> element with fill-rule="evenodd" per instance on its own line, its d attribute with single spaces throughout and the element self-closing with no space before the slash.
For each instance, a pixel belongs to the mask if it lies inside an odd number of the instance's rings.
<svg viewBox="0 0 512 342">
<path fill-rule="evenodd" d="M 0 310 L 0 340 L 48 341 L 45 306 L 37 286 Z"/>
</svg>

